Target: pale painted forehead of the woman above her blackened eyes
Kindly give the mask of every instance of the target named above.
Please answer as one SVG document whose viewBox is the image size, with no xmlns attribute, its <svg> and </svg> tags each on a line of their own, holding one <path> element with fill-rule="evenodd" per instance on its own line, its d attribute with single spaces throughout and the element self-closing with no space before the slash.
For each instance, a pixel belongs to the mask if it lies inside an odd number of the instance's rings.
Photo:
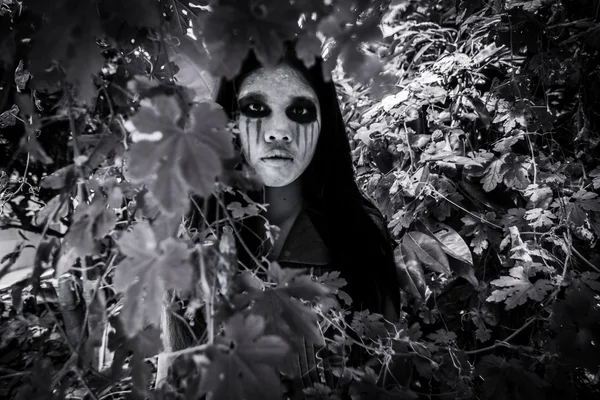
<svg viewBox="0 0 600 400">
<path fill-rule="evenodd" d="M 263 93 L 276 100 L 305 96 L 318 103 L 314 89 L 298 71 L 287 64 L 259 68 L 248 74 L 240 85 L 238 98 L 250 93 Z"/>
</svg>

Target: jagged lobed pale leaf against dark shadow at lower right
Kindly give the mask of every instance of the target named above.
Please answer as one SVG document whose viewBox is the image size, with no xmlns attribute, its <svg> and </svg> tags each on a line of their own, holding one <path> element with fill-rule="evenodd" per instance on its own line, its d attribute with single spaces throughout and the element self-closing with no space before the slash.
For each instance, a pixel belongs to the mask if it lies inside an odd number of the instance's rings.
<svg viewBox="0 0 600 400">
<path fill-rule="evenodd" d="M 548 293 L 554 285 L 547 279 L 538 279 L 532 283 L 524 271 L 523 267 L 511 268 L 510 276 L 502 276 L 490 282 L 496 289 L 486 299 L 490 302 L 504 302 L 505 309 L 511 310 L 516 306 L 525 304 L 528 299 L 541 302 L 546 293 Z"/>
</svg>

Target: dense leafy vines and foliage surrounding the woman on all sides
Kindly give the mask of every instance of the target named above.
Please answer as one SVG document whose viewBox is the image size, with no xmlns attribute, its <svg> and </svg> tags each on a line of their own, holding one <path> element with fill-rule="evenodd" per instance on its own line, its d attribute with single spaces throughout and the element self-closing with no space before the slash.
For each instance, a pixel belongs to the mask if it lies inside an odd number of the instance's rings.
<svg viewBox="0 0 600 400">
<path fill-rule="evenodd" d="M 598 18 L 591 0 L 0 0 L 0 224 L 24 232 L 0 278 L 39 235 L 0 303 L 0 394 L 280 398 L 303 337 L 334 356 L 313 398 L 597 397 Z M 272 64 L 290 37 L 307 64 L 328 39 L 397 242 L 398 322 L 345 311 L 338 272 L 244 270 L 235 230 L 181 221 L 190 194 L 231 226 L 265 208 L 223 203 L 251 177 L 198 71 L 233 76 L 250 48 Z M 162 308 L 203 313 L 205 336 L 166 354 Z M 159 353 L 176 359 L 150 390 Z"/>
</svg>

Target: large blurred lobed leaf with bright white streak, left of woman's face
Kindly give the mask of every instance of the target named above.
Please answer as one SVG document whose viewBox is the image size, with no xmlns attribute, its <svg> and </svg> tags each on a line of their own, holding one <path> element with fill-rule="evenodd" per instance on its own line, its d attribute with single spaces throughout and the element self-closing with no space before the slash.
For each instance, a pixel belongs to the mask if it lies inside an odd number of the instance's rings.
<svg viewBox="0 0 600 400">
<path fill-rule="evenodd" d="M 181 110 L 175 98 L 161 95 L 143 100 L 130 120 L 134 143 L 126 176 L 143 182 L 158 170 L 151 190 L 167 214 L 182 212 L 190 191 L 209 195 L 221 174 L 221 160 L 233 156 L 223 110 L 204 102 L 190 112 L 191 124 L 180 128 Z"/>
</svg>

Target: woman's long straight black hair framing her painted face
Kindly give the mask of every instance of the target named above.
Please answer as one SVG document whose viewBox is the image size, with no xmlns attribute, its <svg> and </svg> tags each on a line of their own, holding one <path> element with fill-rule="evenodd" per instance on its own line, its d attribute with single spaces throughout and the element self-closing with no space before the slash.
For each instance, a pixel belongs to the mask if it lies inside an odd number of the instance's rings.
<svg viewBox="0 0 600 400">
<path fill-rule="evenodd" d="M 325 81 L 322 59 L 307 68 L 296 57 L 293 44 L 288 43 L 281 60 L 297 70 L 315 90 L 321 105 L 321 134 L 314 157 L 302 174 L 304 200 L 311 210 L 323 216 L 323 224 L 315 224 L 323 237 L 334 270 L 346 279 L 344 288 L 353 299 L 353 309 L 384 311 L 384 298 L 398 308 L 399 285 L 395 272 L 391 239 L 379 210 L 363 196 L 354 180 L 350 145 L 340 110 L 335 84 Z M 237 90 L 244 78 L 262 67 L 250 52 L 240 72 L 231 80 L 222 78 L 216 86 L 215 101 L 231 119 L 238 112 Z M 261 193 L 249 193 L 254 200 Z M 249 249 L 256 249 L 257 238 L 252 232 L 257 219 L 247 219 L 241 226 L 242 238 Z M 238 246 L 240 261 L 252 264 L 251 257 Z"/>
</svg>

